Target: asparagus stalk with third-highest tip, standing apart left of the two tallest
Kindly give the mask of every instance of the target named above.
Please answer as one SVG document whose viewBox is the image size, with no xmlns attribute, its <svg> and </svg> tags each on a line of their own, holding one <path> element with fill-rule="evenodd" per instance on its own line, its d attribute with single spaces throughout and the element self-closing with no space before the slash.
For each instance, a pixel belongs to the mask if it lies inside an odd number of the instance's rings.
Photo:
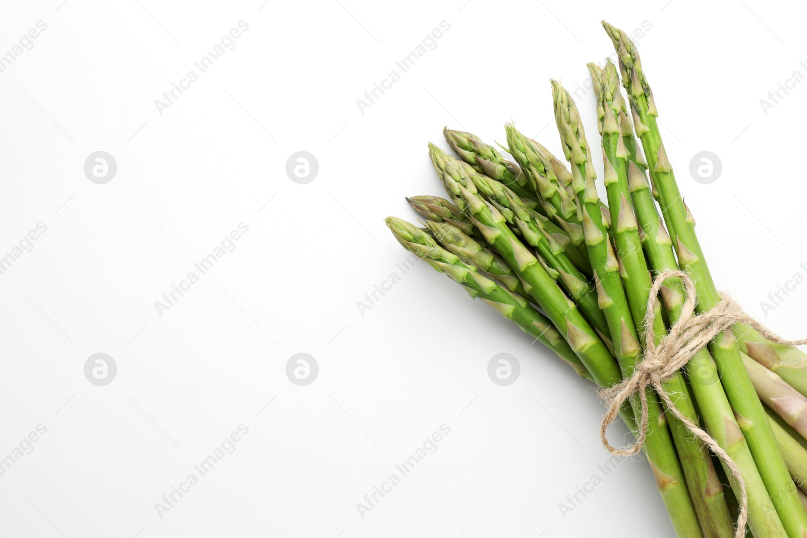
<svg viewBox="0 0 807 538">
<path fill-rule="evenodd" d="M 594 270 L 600 308 L 604 311 L 611 327 L 613 346 L 617 352 L 622 374 L 633 375 L 642 348 L 636 337 L 636 327 L 630 312 L 628 299 L 622 287 L 619 263 L 608 240 L 600 198 L 594 185 L 594 169 L 589 159 L 583 125 L 571 96 L 557 81 L 552 81 L 555 122 L 561 136 L 564 154 L 572 167 L 572 190 L 577 194 L 579 206 L 583 210 L 583 231 L 588 252 L 588 260 Z M 653 427 L 648 428 L 645 440 L 648 460 L 654 465 L 657 482 L 675 482 L 675 489 L 659 488 L 662 491 L 667 511 L 679 536 L 702 536 L 700 523 L 690 498 L 684 471 L 675 451 L 675 444 L 667 427 L 667 420 L 658 399 L 648 390 L 647 415 Z M 640 422 L 642 407 L 638 394 L 631 398 L 637 423 Z M 659 480 L 663 476 L 663 480 Z"/>
</svg>

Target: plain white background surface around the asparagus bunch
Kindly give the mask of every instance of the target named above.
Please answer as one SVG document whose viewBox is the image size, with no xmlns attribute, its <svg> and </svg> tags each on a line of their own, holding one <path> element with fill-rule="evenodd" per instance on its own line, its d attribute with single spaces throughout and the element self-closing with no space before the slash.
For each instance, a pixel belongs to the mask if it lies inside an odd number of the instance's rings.
<svg viewBox="0 0 807 538">
<path fill-rule="evenodd" d="M 426 143 L 445 147 L 444 124 L 503 142 L 514 120 L 561 155 L 548 80 L 572 90 L 612 52 L 601 18 L 652 26 L 638 47 L 717 285 L 805 336 L 807 286 L 759 306 L 807 274 L 807 82 L 759 104 L 807 74 L 793 4 L 61 2 L 0 17 L 0 54 L 48 25 L 0 73 L 0 256 L 48 227 L 0 275 L 0 458 L 48 428 L 0 477 L 0 536 L 671 535 L 642 458 L 562 517 L 608 460 L 592 386 L 428 266 L 402 275 L 383 223 L 416 218 L 404 196 L 441 194 Z M 240 20 L 236 48 L 159 114 Z M 444 20 L 362 115 L 357 99 Z M 596 147 L 592 93 L 578 104 Z M 98 150 L 118 164 L 106 185 L 83 173 Z M 307 185 L 285 172 L 301 150 L 320 166 Z M 711 185 L 688 174 L 700 151 L 722 161 Z M 241 222 L 237 248 L 158 315 Z M 95 352 L 118 365 L 107 386 L 84 377 Z M 286 377 L 297 352 L 319 363 L 309 386 Z M 521 362 L 512 386 L 487 377 L 499 352 Z M 159 517 L 241 423 L 236 451 Z M 356 503 L 444 423 L 437 452 L 362 518 Z"/>
</svg>

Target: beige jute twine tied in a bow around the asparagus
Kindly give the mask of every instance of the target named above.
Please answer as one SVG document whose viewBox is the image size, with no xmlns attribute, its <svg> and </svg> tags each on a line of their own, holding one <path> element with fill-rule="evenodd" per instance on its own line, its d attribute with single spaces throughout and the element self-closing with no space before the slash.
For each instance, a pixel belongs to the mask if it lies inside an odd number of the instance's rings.
<svg viewBox="0 0 807 538">
<path fill-rule="evenodd" d="M 686 290 L 684 307 L 682 308 L 680 318 L 670 328 L 670 332 L 656 345 L 654 333 L 655 302 L 658 300 L 657 297 L 664 281 L 671 277 L 680 278 L 681 282 L 684 284 L 684 290 Z M 700 348 L 704 348 L 721 332 L 730 329 L 734 323 L 745 323 L 749 327 L 753 327 L 767 340 L 776 342 L 776 344 L 786 346 L 803 345 L 807 344 L 807 339 L 785 340 L 784 338 L 780 338 L 780 336 L 776 336 L 768 331 L 767 328 L 763 327 L 758 321 L 743 314 L 742 308 L 737 302 L 734 302 L 734 299 L 728 294 L 721 294 L 721 301 L 708 312 L 694 315 L 695 306 L 695 284 L 687 273 L 671 270 L 661 273 L 655 278 L 653 287 L 650 289 L 650 300 L 647 302 L 647 311 L 644 319 L 644 357 L 642 361 L 636 365 L 633 376 L 617 385 L 600 390 L 600 397 L 603 398 L 607 404 L 607 411 L 600 424 L 600 439 L 604 447 L 608 449 L 608 452 L 616 456 L 631 456 L 638 453 L 638 451 L 642 449 L 642 444 L 644 444 L 647 437 L 647 389 L 654 389 L 656 393 L 661 396 L 667 407 L 667 411 L 675 415 L 675 418 L 679 419 L 681 423 L 684 423 L 684 426 L 688 427 L 692 435 L 696 436 L 708 446 L 729 469 L 741 492 L 740 514 L 737 519 L 737 529 L 734 536 L 736 536 L 736 538 L 742 538 L 742 536 L 745 536 L 746 520 L 748 519 L 748 495 L 746 494 L 746 483 L 742 479 L 741 469 L 734 463 L 734 460 L 731 459 L 729 454 L 717 444 L 717 441 L 714 440 L 712 436 L 709 436 L 709 434 L 701 429 L 695 422 L 684 416 L 681 411 L 678 410 L 678 407 L 675 407 L 675 403 L 672 401 L 670 394 L 667 394 L 667 391 L 664 390 L 663 382 L 667 381 L 667 379 L 679 369 L 683 368 L 684 365 L 700 351 Z M 608 443 L 608 437 L 606 436 L 608 425 L 617 419 L 623 403 L 636 393 L 638 393 L 639 399 L 642 402 L 642 412 L 636 442 L 626 448 L 613 448 L 613 446 Z"/>
</svg>

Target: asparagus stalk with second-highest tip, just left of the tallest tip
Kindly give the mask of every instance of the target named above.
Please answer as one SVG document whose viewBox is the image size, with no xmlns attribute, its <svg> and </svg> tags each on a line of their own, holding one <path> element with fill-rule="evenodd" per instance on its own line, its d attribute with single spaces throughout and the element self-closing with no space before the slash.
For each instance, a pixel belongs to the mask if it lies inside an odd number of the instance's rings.
<svg viewBox="0 0 807 538">
<path fill-rule="evenodd" d="M 592 73 L 593 77 L 594 73 Z M 612 227 L 617 253 L 621 261 L 622 281 L 625 285 L 630 311 L 633 320 L 640 327 L 640 337 L 644 341 L 642 330 L 647 303 L 650 300 L 650 273 L 648 271 L 642 243 L 639 240 L 638 224 L 633 215 L 633 206 L 629 202 L 627 162 L 628 152 L 622 137 L 621 113 L 625 109 L 619 87 L 619 75 L 616 67 L 608 60 L 600 71 L 601 86 L 597 90 L 598 110 L 602 111 L 600 134 L 603 145 L 603 162 L 605 169 L 604 185 L 608 192 L 608 206 L 611 208 Z M 654 335 L 659 344 L 667 334 L 661 311 L 654 316 Z M 692 396 L 681 373 L 675 374 L 664 382 L 664 390 L 675 404 L 675 407 L 689 420 L 697 423 Z M 687 478 L 692 503 L 700 521 L 704 536 L 715 538 L 731 538 L 734 536 L 729 508 L 725 504 L 723 488 L 717 480 L 709 451 L 700 443 L 675 416 L 668 414 L 670 430 L 675 440 L 675 448 Z"/>
</svg>

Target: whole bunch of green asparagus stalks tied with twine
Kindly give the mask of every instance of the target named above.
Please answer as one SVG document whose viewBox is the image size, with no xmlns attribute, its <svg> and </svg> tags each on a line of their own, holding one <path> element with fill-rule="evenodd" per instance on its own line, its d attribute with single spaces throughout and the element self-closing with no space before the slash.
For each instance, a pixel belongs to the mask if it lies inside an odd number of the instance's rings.
<svg viewBox="0 0 807 538">
<path fill-rule="evenodd" d="M 721 294 L 679 194 L 636 48 L 625 32 L 603 26 L 617 65 L 606 60 L 602 68 L 588 68 L 607 201 L 596 191 L 596 156 L 575 102 L 553 80 L 565 162 L 512 124 L 507 150 L 515 163 L 479 137 L 445 128 L 458 157 L 434 144 L 429 156 L 449 199 L 407 198 L 426 219 L 424 227 L 394 217 L 387 225 L 404 248 L 607 388 L 642 361 L 649 304 L 655 305 L 656 344 L 684 315 L 687 295 L 678 277 L 665 280 L 650 302 L 654 275 L 687 273 L 699 312 L 715 307 Z M 725 463 L 665 410 L 657 394 L 647 394 L 642 448 L 678 535 L 734 536 L 744 493 L 747 526 L 756 538 L 807 537 L 807 354 L 736 323 L 663 388 L 678 411 L 729 454 L 744 481 L 741 486 L 721 469 Z M 621 409 L 634 434 L 639 399 L 634 395 Z"/>
</svg>

